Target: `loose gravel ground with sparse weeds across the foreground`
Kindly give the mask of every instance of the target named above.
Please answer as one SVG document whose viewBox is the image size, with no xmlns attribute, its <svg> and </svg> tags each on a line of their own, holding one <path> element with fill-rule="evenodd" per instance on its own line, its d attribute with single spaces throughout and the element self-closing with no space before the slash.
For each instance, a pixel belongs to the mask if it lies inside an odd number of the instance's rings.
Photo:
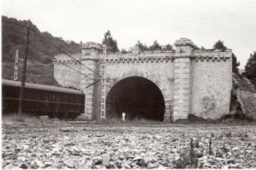
<svg viewBox="0 0 256 170">
<path fill-rule="evenodd" d="M 2 168 L 256 168 L 256 126 L 2 128 Z"/>
</svg>

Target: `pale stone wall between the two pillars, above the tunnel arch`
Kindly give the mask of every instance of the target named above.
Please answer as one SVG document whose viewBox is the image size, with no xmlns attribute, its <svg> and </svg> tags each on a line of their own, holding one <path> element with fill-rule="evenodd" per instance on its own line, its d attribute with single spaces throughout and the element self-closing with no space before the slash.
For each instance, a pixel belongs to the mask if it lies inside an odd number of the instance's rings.
<svg viewBox="0 0 256 170">
<path fill-rule="evenodd" d="M 151 53 L 154 56 L 154 53 Z M 163 55 L 163 54 L 162 54 Z M 166 56 L 170 56 L 166 53 Z M 114 57 L 113 57 L 114 58 Z M 157 87 L 163 94 L 166 107 L 170 107 L 173 101 L 174 93 L 174 62 L 172 59 L 148 59 L 148 60 L 130 60 L 127 57 L 126 61 L 115 61 L 111 56 L 108 56 L 108 62 L 106 65 L 107 77 L 111 78 L 111 82 L 108 83 L 107 94 L 119 80 L 126 77 L 145 77 L 156 83 Z M 113 60 L 111 60 L 113 59 Z M 168 114 L 168 115 L 167 115 Z M 166 112 L 165 120 L 169 120 L 170 112 Z"/>
</svg>

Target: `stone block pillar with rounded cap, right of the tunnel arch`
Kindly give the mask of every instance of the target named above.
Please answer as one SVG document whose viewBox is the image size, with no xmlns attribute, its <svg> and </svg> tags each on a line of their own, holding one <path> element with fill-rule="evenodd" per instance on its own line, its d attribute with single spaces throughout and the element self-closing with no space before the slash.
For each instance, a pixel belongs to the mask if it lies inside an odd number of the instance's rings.
<svg viewBox="0 0 256 170">
<path fill-rule="evenodd" d="M 191 108 L 191 55 L 194 43 L 187 38 L 175 41 L 175 70 L 174 70 L 174 106 L 175 120 L 187 119 Z"/>
</svg>

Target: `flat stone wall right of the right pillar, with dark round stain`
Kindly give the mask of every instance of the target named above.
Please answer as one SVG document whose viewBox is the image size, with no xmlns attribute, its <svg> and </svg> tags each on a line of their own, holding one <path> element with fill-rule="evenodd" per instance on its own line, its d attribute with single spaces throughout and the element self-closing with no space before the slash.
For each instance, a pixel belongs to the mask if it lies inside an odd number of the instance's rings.
<svg viewBox="0 0 256 170">
<path fill-rule="evenodd" d="M 195 53 L 195 56 L 205 56 L 205 59 L 193 60 L 193 111 L 197 117 L 218 119 L 230 110 L 230 95 L 232 90 L 232 58 L 231 51 L 225 53 Z M 216 58 L 207 59 L 206 56 Z M 229 57 L 218 59 L 218 56 Z"/>
</svg>

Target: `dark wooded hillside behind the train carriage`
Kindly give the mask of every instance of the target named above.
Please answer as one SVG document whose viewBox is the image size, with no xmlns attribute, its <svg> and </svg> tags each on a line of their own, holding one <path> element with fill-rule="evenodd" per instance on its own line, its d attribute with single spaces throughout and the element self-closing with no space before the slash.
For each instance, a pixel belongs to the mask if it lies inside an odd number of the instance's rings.
<svg viewBox="0 0 256 170">
<path fill-rule="evenodd" d="M 28 21 L 17 20 L 2 16 L 2 77 L 13 80 L 15 50 L 19 50 L 19 71 L 22 71 L 22 59 L 25 55 L 25 38 Z M 64 41 L 62 38 L 54 37 L 49 32 L 41 32 L 35 24 L 31 28 L 48 41 L 56 44 L 67 53 L 79 53 L 80 44 L 74 41 Z M 44 41 L 34 31 L 30 32 L 29 62 L 27 67 L 26 81 L 57 85 L 53 78 L 53 56 L 61 53 L 59 49 Z M 38 49 L 35 49 L 38 48 Z M 21 72 L 19 72 L 19 80 Z"/>
</svg>

